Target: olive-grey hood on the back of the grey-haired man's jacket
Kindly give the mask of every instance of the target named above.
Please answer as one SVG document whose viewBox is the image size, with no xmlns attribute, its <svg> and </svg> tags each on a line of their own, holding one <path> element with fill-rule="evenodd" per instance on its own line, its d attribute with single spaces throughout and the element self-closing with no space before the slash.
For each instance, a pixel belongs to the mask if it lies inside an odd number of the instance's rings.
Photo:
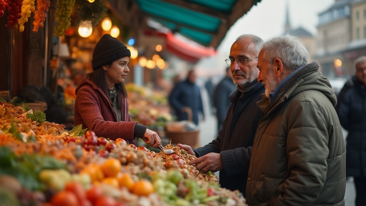
<svg viewBox="0 0 366 206">
<path fill-rule="evenodd" d="M 333 88 L 328 78 L 321 74 L 319 64 L 315 61 L 305 65 L 283 86 L 273 101 L 273 105 L 307 90 L 322 92 L 332 102 L 333 106 L 336 106 L 337 97 Z"/>
</svg>

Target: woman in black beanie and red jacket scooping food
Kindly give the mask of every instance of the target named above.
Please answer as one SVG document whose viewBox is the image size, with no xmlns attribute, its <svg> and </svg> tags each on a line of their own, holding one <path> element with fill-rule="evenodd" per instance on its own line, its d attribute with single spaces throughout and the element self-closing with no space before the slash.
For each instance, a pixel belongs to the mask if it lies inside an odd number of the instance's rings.
<svg viewBox="0 0 366 206">
<path fill-rule="evenodd" d="M 161 145 L 156 132 L 131 122 L 127 92 L 123 85 L 131 56 L 116 38 L 105 34 L 93 51 L 93 72 L 87 74 L 75 90 L 75 125 L 93 130 L 98 137 L 122 138 L 135 144 L 142 138 L 153 147 Z"/>
</svg>

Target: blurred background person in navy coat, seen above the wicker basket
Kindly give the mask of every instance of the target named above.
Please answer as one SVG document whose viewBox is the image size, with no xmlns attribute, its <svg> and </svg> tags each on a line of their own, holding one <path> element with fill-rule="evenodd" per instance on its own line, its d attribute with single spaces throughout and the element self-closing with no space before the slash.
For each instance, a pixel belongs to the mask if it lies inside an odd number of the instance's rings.
<svg viewBox="0 0 366 206">
<path fill-rule="evenodd" d="M 179 82 L 169 95 L 169 103 L 178 117 L 178 121 L 188 120 L 188 114 L 182 110 L 189 107 L 192 110 L 193 122 L 198 125 L 198 113 L 204 117 L 201 91 L 196 82 L 196 72 L 190 70 L 187 80 Z"/>
</svg>

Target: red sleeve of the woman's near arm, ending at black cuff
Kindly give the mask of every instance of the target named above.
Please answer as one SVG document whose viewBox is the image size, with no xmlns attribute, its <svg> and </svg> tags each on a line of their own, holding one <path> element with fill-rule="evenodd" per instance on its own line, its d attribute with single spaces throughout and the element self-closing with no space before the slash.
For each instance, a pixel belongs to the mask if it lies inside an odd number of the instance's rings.
<svg viewBox="0 0 366 206">
<path fill-rule="evenodd" d="M 93 130 L 98 137 L 106 137 L 110 139 L 133 139 L 134 129 L 137 122 L 112 122 L 104 121 L 101 114 L 99 103 L 93 94 L 86 89 L 79 89 L 78 96 L 75 101 L 75 107 L 79 109 L 79 114 L 85 122 L 88 129 Z"/>
</svg>

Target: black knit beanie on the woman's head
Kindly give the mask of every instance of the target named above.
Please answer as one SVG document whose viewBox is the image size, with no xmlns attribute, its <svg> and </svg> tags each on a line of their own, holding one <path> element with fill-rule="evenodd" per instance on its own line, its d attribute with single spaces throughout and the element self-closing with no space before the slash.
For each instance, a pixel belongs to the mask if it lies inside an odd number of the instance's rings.
<svg viewBox="0 0 366 206">
<path fill-rule="evenodd" d="M 109 34 L 104 34 L 97 45 L 95 45 L 91 64 L 93 65 L 93 70 L 96 70 L 125 56 L 131 56 L 130 50 L 118 39 Z"/>
</svg>

